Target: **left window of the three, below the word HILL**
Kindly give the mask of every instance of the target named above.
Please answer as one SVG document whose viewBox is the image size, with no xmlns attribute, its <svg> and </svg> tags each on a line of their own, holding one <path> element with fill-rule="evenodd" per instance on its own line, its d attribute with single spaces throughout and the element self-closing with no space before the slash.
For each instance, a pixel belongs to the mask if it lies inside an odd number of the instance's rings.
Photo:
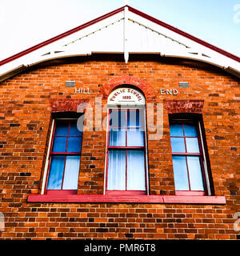
<svg viewBox="0 0 240 256">
<path fill-rule="evenodd" d="M 78 173 L 82 147 L 82 131 L 77 120 L 55 120 L 50 144 L 46 178 L 46 194 L 78 190 Z"/>
</svg>

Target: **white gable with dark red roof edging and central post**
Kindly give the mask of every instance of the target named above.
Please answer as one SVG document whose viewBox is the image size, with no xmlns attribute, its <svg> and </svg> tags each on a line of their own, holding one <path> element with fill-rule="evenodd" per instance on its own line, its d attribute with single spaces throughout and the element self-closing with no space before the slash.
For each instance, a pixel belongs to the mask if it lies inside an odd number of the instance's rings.
<svg viewBox="0 0 240 256">
<path fill-rule="evenodd" d="M 238 56 L 126 5 L 3 59 L 0 81 L 39 62 L 92 53 L 123 53 L 126 62 L 129 53 L 190 58 L 240 77 Z"/>
</svg>

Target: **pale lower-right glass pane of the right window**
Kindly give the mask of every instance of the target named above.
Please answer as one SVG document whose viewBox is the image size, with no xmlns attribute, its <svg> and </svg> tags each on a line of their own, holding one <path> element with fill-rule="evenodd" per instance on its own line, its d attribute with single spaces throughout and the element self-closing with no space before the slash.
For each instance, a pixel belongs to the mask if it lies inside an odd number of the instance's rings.
<svg viewBox="0 0 240 256">
<path fill-rule="evenodd" d="M 191 190 L 204 190 L 202 168 L 198 156 L 187 157 L 188 170 L 190 175 Z"/>
</svg>

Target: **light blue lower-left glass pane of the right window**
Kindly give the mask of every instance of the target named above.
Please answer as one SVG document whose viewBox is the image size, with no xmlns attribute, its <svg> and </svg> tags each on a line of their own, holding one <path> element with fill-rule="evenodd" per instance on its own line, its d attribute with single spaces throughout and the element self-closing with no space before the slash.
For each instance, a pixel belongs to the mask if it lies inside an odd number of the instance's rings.
<svg viewBox="0 0 240 256">
<path fill-rule="evenodd" d="M 186 157 L 173 155 L 175 190 L 189 190 Z"/>
</svg>

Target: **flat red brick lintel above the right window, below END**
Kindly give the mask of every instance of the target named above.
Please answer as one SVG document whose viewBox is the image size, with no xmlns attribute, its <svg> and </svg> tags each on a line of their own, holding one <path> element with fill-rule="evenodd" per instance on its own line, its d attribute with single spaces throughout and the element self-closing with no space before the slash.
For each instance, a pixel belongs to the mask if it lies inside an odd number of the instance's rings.
<svg viewBox="0 0 240 256">
<path fill-rule="evenodd" d="M 202 114 L 204 100 L 164 100 L 164 106 L 168 114 L 174 113 L 196 113 Z"/>
</svg>

